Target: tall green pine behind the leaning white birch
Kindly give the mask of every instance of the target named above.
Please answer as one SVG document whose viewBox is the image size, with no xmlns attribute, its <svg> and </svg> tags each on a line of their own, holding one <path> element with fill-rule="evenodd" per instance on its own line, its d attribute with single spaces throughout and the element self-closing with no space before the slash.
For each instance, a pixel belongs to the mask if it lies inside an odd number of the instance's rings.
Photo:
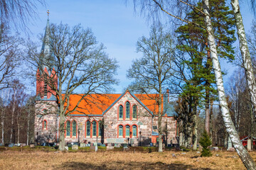
<svg viewBox="0 0 256 170">
<path fill-rule="evenodd" d="M 218 54 L 220 57 L 234 59 L 234 50 L 232 47 L 235 41 L 235 21 L 233 18 L 233 11 L 230 11 L 228 6 L 225 6 L 225 1 L 210 0 L 210 16 L 213 23 L 215 44 L 217 45 Z M 202 8 L 202 4 L 198 3 L 197 8 Z M 206 25 L 203 20 L 203 14 L 198 11 L 191 11 L 188 13 L 188 19 L 193 23 L 199 25 Z M 191 117 L 193 129 L 193 149 L 196 149 L 197 142 L 197 117 L 196 110 L 199 103 L 203 101 L 206 103 L 206 132 L 210 135 L 210 98 L 216 94 L 215 79 L 212 68 L 212 61 L 210 59 L 210 50 L 208 46 L 208 32 L 203 28 L 199 28 L 192 23 L 187 23 L 180 26 L 176 33 L 178 33 L 178 50 L 183 52 L 182 57 L 178 58 L 176 62 L 181 81 L 183 81 L 183 92 L 181 97 L 186 96 L 189 105 L 189 116 Z M 183 69 L 185 68 L 185 69 Z M 183 74 L 186 72 L 188 74 Z"/>
</svg>

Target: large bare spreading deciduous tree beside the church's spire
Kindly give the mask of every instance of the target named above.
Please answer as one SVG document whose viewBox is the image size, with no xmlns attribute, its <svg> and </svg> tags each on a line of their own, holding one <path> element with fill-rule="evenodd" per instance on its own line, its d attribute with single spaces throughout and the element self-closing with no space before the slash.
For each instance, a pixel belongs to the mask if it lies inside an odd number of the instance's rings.
<svg viewBox="0 0 256 170">
<path fill-rule="evenodd" d="M 49 21 L 48 21 L 49 22 Z M 82 26 L 70 28 L 68 25 L 52 24 L 46 26 L 44 38 L 48 52 L 38 52 L 32 44 L 28 47 L 28 57 L 31 63 L 38 67 L 41 78 L 47 79 L 51 93 L 55 95 L 58 104 L 60 122 L 60 147 L 65 146 L 65 116 L 77 111 L 82 100 L 90 94 L 107 93 L 111 85 L 117 84 L 114 74 L 117 62 L 105 53 L 105 47 L 97 45 L 95 36 L 90 29 Z M 46 74 L 47 68 L 51 74 Z M 46 79 L 45 79 L 46 78 Z M 57 84 L 58 81 L 58 84 Z M 58 85 L 58 86 L 57 86 Z M 83 94 L 78 94 L 78 90 Z M 75 106 L 70 106 L 70 95 L 79 96 Z"/>
</svg>

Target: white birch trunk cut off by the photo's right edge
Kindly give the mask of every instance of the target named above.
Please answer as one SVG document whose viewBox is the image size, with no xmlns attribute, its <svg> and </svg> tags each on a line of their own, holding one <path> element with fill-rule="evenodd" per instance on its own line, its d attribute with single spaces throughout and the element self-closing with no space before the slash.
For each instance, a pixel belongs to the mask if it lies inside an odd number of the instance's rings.
<svg viewBox="0 0 256 170">
<path fill-rule="evenodd" d="M 245 76 L 248 84 L 250 101 L 253 106 L 253 114 L 256 118 L 256 84 L 255 75 L 253 74 L 252 60 L 250 57 L 250 52 L 247 45 L 247 40 L 245 36 L 245 27 L 242 23 L 242 15 L 240 13 L 240 6 L 238 0 L 231 0 L 231 5 L 233 7 L 235 15 L 235 25 L 237 27 L 238 39 L 240 42 L 240 52 L 242 55 L 242 64 L 245 69 Z"/>
</svg>

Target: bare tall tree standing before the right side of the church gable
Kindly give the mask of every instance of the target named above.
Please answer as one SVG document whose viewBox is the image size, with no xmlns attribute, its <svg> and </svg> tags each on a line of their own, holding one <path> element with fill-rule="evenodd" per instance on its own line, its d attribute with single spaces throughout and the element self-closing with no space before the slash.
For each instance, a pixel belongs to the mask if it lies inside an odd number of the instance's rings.
<svg viewBox="0 0 256 170">
<path fill-rule="evenodd" d="M 162 115 L 163 89 L 168 86 L 172 77 L 172 61 L 174 59 L 174 42 L 170 33 L 164 31 L 162 26 L 152 26 L 149 38 L 142 37 L 137 42 L 137 52 L 142 52 L 143 57 L 134 60 L 132 67 L 127 71 L 127 77 L 134 79 L 133 86 L 143 92 L 153 91 L 158 94 L 156 103 L 158 110 L 159 152 L 162 149 Z"/>
</svg>

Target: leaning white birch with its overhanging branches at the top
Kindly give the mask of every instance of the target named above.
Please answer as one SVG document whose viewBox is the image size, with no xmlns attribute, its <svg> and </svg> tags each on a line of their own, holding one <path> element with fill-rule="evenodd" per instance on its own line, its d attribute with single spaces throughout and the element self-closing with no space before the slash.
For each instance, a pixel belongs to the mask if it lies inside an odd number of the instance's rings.
<svg viewBox="0 0 256 170">
<path fill-rule="evenodd" d="M 235 1 L 237 1 L 237 0 L 235 0 Z M 182 18 L 183 16 L 177 15 L 177 13 L 175 13 L 176 11 L 171 11 L 171 10 L 167 11 L 165 5 L 167 4 L 167 6 L 168 6 L 168 4 L 175 3 L 175 2 L 169 2 L 169 1 L 165 2 L 165 1 L 157 1 L 157 0 L 151 0 L 151 1 L 144 0 L 144 1 L 140 1 L 140 2 L 141 2 L 140 6 L 142 6 L 143 10 L 149 9 L 149 11 L 158 11 L 158 12 L 159 12 L 159 10 L 161 10 L 164 13 L 166 13 L 168 16 L 174 17 L 183 22 L 193 23 L 191 21 L 188 21 L 186 18 Z M 224 90 L 224 86 L 223 86 L 223 77 L 222 77 L 222 72 L 220 69 L 220 62 L 218 60 L 218 52 L 217 52 L 217 48 L 215 45 L 215 37 L 214 37 L 214 32 L 213 32 L 212 21 L 210 20 L 209 1 L 203 0 L 203 10 L 201 8 L 196 8 L 196 6 L 194 4 L 190 4 L 191 1 L 178 0 L 178 2 L 179 2 L 179 4 L 185 4 L 186 6 L 189 6 L 189 8 L 193 8 L 193 10 L 197 10 L 198 12 L 201 12 L 204 15 L 203 18 L 205 19 L 205 25 L 202 26 L 198 23 L 193 23 L 193 24 L 195 24 L 196 26 L 199 26 L 201 28 L 205 28 L 208 32 L 210 58 L 213 62 L 213 70 L 214 70 L 216 85 L 217 85 L 217 89 L 218 89 L 218 101 L 220 103 L 220 110 L 221 110 L 221 113 L 223 116 L 223 122 L 225 124 L 226 131 L 228 132 L 228 135 L 229 135 L 231 141 L 233 142 L 235 150 L 236 150 L 236 152 L 238 152 L 240 159 L 242 160 L 243 164 L 245 164 L 245 167 L 247 169 L 256 169 L 255 162 L 253 161 L 252 157 L 250 157 L 250 154 L 247 152 L 245 147 L 242 146 L 242 143 L 240 142 L 238 133 L 235 131 L 235 126 L 230 118 L 228 103 L 226 100 L 225 90 Z M 178 4 L 176 4 L 176 5 L 178 5 Z M 145 8 L 145 6 L 146 6 L 146 8 Z M 168 6 L 168 7 L 170 9 L 170 6 Z M 159 9 L 159 10 L 157 10 L 157 9 Z M 234 11 L 235 14 L 236 14 L 236 12 L 237 11 Z"/>
</svg>

